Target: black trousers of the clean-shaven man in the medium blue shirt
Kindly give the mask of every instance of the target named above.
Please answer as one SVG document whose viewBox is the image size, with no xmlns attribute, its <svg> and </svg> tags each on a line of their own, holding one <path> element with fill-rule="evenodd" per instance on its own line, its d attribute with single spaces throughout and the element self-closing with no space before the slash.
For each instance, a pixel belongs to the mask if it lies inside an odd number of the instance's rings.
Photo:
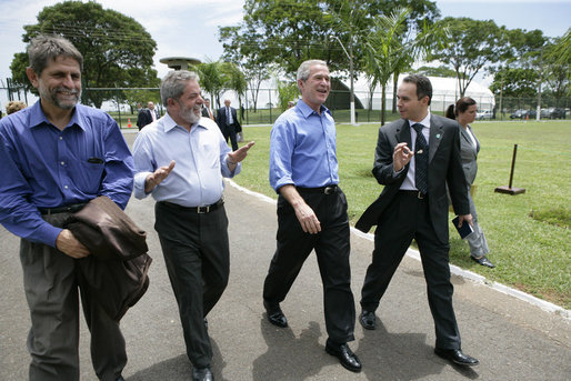
<svg viewBox="0 0 571 381">
<path fill-rule="evenodd" d="M 304 233 L 290 203 L 278 199 L 277 250 L 263 284 L 263 299 L 280 303 L 286 299 L 303 262 L 314 249 L 323 283 L 325 328 L 335 343 L 354 340 L 354 300 L 349 264 L 350 241 L 347 199 L 341 189 L 332 194 L 300 194 L 321 222 L 318 234 Z"/>
</svg>

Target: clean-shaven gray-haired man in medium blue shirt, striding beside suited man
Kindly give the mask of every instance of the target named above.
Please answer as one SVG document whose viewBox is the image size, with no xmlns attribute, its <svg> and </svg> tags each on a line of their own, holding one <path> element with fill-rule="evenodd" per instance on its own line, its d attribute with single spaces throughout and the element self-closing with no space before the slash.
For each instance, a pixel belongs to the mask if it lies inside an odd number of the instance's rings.
<svg viewBox="0 0 571 381">
<path fill-rule="evenodd" d="M 278 242 L 263 284 L 268 320 L 288 327 L 280 303 L 303 262 L 315 250 L 323 283 L 325 351 L 353 372 L 359 358 L 354 340 L 354 300 L 349 265 L 347 199 L 339 183 L 335 124 L 323 106 L 331 89 L 323 61 L 303 62 L 298 70 L 301 100 L 282 113 L 271 131 L 270 184 L 278 198 Z"/>
</svg>

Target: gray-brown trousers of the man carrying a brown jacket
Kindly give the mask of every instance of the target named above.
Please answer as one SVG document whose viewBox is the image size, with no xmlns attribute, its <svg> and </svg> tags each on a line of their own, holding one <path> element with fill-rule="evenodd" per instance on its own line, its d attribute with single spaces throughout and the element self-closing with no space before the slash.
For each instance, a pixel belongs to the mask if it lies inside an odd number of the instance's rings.
<svg viewBox="0 0 571 381">
<path fill-rule="evenodd" d="M 69 213 L 44 215 L 61 227 Z M 32 357 L 30 381 L 79 380 L 79 291 L 91 332 L 91 361 L 100 380 L 114 381 L 127 363 L 119 322 L 90 300 L 78 283 L 77 262 L 52 247 L 20 242 L 23 285 L 32 327 L 28 350 Z"/>
</svg>

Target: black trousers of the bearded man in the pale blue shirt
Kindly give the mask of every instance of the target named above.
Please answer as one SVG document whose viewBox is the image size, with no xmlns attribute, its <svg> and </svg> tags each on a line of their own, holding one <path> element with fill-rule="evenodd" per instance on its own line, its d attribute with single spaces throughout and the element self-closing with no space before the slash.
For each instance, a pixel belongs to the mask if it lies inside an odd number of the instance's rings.
<svg viewBox="0 0 571 381">
<path fill-rule="evenodd" d="M 196 368 L 209 367 L 212 347 L 204 318 L 222 295 L 230 274 L 224 207 L 199 214 L 157 202 L 154 213 L 154 229 L 179 304 L 187 354 Z"/>
</svg>

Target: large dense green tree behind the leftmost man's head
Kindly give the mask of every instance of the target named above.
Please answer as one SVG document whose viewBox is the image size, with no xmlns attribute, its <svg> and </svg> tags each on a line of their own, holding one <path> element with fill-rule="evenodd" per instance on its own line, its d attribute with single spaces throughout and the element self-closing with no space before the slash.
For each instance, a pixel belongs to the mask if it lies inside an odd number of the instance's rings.
<svg viewBox="0 0 571 381">
<path fill-rule="evenodd" d="M 33 37 L 59 34 L 83 54 L 83 88 L 129 88 L 159 86 L 152 57 L 157 43 L 134 19 L 89 1 L 66 1 L 46 7 L 38 23 L 24 26 L 23 42 Z M 16 53 L 10 66 L 14 82 L 26 84 L 28 53 Z M 82 102 L 97 108 L 107 99 L 126 99 L 120 91 L 83 91 Z"/>
</svg>

